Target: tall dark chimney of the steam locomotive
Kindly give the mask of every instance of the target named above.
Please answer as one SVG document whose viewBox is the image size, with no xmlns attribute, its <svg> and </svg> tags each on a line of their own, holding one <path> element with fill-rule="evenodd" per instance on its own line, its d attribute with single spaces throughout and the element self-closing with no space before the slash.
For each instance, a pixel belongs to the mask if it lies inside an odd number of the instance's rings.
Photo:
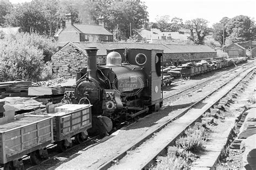
<svg viewBox="0 0 256 170">
<path fill-rule="evenodd" d="M 86 50 L 87 53 L 87 77 L 95 78 L 97 77 L 97 49 L 96 47 L 89 47 Z"/>
</svg>

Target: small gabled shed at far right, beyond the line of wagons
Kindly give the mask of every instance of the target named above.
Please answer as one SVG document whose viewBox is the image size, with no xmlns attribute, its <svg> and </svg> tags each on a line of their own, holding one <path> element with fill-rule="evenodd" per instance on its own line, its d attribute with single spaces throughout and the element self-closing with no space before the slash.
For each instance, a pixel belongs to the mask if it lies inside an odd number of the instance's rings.
<svg viewBox="0 0 256 170">
<path fill-rule="evenodd" d="M 228 56 L 230 58 L 235 58 L 235 57 L 245 57 L 246 56 L 246 49 L 242 47 L 241 45 L 237 43 L 233 43 L 228 45 L 225 48 L 225 52 L 228 53 Z"/>
</svg>

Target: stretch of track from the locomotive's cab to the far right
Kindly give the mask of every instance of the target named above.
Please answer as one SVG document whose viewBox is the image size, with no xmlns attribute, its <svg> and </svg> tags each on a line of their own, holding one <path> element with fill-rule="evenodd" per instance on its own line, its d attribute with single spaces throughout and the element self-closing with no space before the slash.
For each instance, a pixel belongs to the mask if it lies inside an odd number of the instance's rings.
<svg viewBox="0 0 256 170">
<path fill-rule="evenodd" d="M 250 62 L 250 63 L 246 63 L 246 64 L 243 64 L 241 66 L 238 66 L 238 67 L 235 67 L 234 69 L 230 70 L 230 71 L 227 71 L 225 74 L 228 74 L 228 73 L 231 73 L 235 70 L 238 70 L 240 69 L 241 67 L 244 67 L 244 66 L 248 66 L 248 65 L 252 65 L 254 62 Z M 191 87 L 188 87 L 187 89 L 184 89 L 176 94 L 172 94 L 171 96 L 168 96 L 168 97 L 165 97 L 164 98 L 164 102 L 163 102 L 163 106 L 166 106 L 167 104 L 170 104 L 170 103 L 173 103 L 174 101 L 176 101 L 177 99 L 179 99 L 180 97 L 183 97 L 183 96 L 186 96 L 187 94 L 190 94 L 198 89 L 201 89 L 202 87 L 206 86 L 207 83 L 215 80 L 215 79 L 218 79 L 220 77 L 222 77 L 224 74 L 221 74 L 221 75 L 218 75 L 218 76 L 214 76 L 213 78 L 210 78 L 210 79 L 207 79 L 199 84 L 196 84 L 196 85 L 193 85 Z"/>
</svg>

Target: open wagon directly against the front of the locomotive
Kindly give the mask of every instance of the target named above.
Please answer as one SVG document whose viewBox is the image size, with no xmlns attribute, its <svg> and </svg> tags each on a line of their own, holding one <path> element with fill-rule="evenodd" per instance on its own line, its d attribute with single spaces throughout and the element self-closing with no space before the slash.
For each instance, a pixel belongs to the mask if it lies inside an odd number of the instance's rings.
<svg viewBox="0 0 256 170">
<path fill-rule="evenodd" d="M 87 139 L 87 130 L 92 127 L 91 106 L 64 104 L 49 107 L 47 116 L 53 117 L 53 140 L 60 151 L 72 145 L 72 137 L 78 143 Z"/>
</svg>

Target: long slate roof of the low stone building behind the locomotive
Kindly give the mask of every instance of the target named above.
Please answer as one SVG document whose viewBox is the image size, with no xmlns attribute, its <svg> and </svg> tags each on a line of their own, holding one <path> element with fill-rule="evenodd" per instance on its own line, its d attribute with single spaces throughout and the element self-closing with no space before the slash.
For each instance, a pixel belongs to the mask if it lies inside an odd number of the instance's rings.
<svg viewBox="0 0 256 170">
<path fill-rule="evenodd" d="M 69 42 L 84 53 L 87 47 L 97 47 L 97 55 L 105 56 L 106 50 L 133 48 L 133 49 L 158 49 L 164 53 L 190 53 L 190 52 L 216 52 L 207 45 L 183 45 L 183 44 L 152 44 L 152 43 L 98 43 L 98 42 Z M 68 45 L 67 43 L 66 45 Z M 66 46 L 65 45 L 65 46 Z M 64 46 L 64 47 L 65 47 Z"/>
</svg>

